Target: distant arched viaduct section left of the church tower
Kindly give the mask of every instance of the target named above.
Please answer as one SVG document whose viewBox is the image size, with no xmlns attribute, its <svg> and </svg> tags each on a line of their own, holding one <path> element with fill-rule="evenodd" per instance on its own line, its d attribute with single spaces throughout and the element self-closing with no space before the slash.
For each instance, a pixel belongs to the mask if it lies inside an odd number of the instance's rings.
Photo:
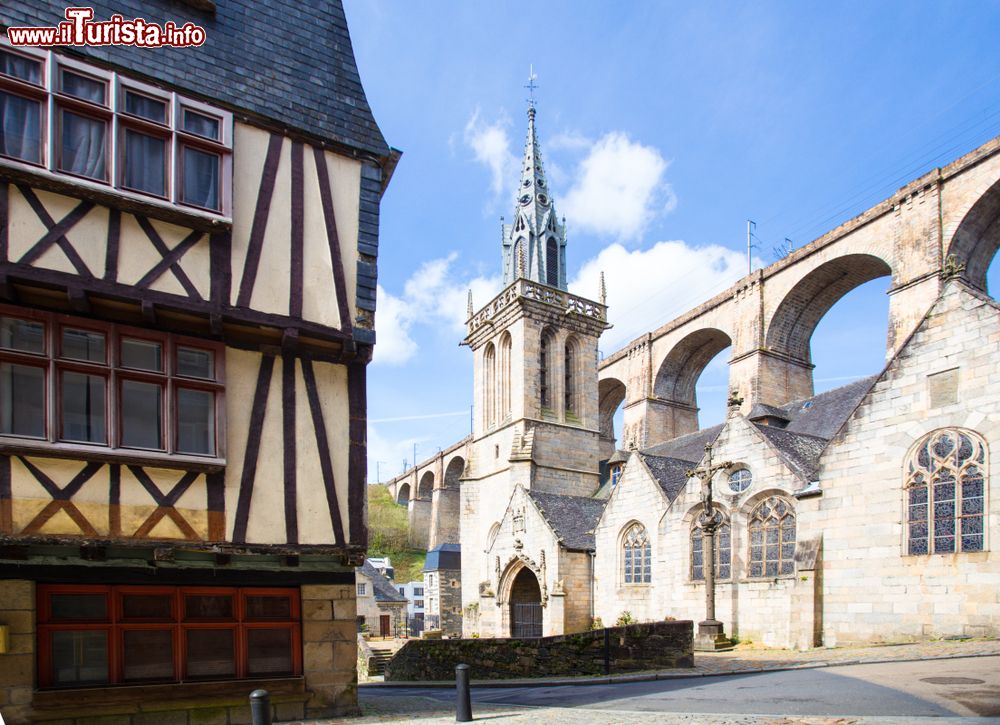
<svg viewBox="0 0 1000 725">
<path fill-rule="evenodd" d="M 407 507 L 410 545 L 433 549 L 457 544 L 459 479 L 465 472 L 471 437 L 439 451 L 385 485 L 396 503 Z"/>
</svg>

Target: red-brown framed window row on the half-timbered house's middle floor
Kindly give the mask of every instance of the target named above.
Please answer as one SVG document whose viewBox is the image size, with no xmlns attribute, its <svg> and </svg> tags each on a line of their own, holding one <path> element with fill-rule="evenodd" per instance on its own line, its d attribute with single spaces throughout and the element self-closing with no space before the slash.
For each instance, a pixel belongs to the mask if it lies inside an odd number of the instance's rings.
<svg viewBox="0 0 1000 725">
<path fill-rule="evenodd" d="M 222 351 L 0 306 L 0 436 L 222 458 Z"/>
</svg>

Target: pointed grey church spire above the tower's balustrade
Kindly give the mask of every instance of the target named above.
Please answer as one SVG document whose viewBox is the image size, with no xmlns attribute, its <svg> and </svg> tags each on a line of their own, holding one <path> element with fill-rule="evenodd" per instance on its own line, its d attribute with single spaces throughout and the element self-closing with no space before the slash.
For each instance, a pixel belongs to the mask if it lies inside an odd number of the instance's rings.
<svg viewBox="0 0 1000 725">
<path fill-rule="evenodd" d="M 503 225 L 504 284 L 526 277 L 564 290 L 566 228 L 559 222 L 545 179 L 542 151 L 535 129 L 534 81 L 532 72 L 527 86 L 532 93 L 528 101 L 528 137 L 524 143 L 514 221 Z"/>
</svg>

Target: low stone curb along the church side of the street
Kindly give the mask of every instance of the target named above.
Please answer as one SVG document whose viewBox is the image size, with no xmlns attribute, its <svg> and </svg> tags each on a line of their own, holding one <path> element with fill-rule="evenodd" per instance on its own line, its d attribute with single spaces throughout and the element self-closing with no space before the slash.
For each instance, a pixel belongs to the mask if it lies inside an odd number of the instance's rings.
<svg viewBox="0 0 1000 725">
<path fill-rule="evenodd" d="M 756 675 L 762 672 L 788 672 L 790 670 L 814 670 L 823 667 L 844 667 L 849 665 L 874 665 L 887 662 L 923 662 L 925 660 L 957 660 L 973 657 L 1000 657 L 998 652 L 982 652 L 975 654 L 931 655 L 924 657 L 890 657 L 864 658 L 822 662 L 807 662 L 778 667 L 744 667 L 726 672 L 649 672 L 628 675 L 602 675 L 600 677 L 573 677 L 556 679 L 518 679 L 518 680 L 473 680 L 472 687 L 478 688 L 518 688 L 518 687 L 562 687 L 583 685 L 613 685 L 626 682 L 653 682 L 655 680 L 684 680 L 698 677 L 725 677 L 731 675 Z M 454 689 L 455 683 L 449 680 L 430 680 L 426 682 L 362 682 L 358 689 Z"/>
</svg>

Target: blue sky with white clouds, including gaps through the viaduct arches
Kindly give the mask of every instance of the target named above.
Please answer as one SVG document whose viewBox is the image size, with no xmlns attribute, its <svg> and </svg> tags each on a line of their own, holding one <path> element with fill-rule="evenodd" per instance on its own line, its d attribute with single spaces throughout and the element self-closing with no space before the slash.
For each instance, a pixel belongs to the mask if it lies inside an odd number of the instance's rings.
<svg viewBox="0 0 1000 725">
<path fill-rule="evenodd" d="M 382 202 L 369 479 L 469 431 L 466 290 L 499 290 L 529 65 L 570 288 L 608 277 L 628 340 L 1000 134 L 1000 3 L 346 0 L 362 81 L 403 151 Z M 990 281 L 1000 288 L 1000 264 Z M 813 337 L 817 391 L 877 372 L 887 279 Z M 723 415 L 724 351 L 698 387 Z"/>
</svg>

